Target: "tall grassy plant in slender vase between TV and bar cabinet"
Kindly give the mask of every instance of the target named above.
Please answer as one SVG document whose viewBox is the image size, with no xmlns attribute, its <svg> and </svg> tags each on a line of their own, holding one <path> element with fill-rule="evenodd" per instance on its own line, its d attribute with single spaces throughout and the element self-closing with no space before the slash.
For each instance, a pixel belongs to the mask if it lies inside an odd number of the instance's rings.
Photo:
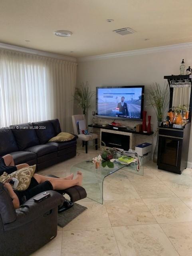
<svg viewBox="0 0 192 256">
<path fill-rule="evenodd" d="M 150 89 L 148 90 L 148 101 L 149 105 L 152 106 L 152 108 L 155 111 L 158 126 L 157 130 L 154 133 L 154 135 L 157 137 L 156 140 L 156 146 L 154 148 L 153 153 L 153 162 L 157 162 L 157 153 L 158 153 L 158 127 L 160 126 L 160 123 L 163 121 L 163 118 L 166 114 L 166 110 L 168 108 L 168 102 L 169 102 L 169 90 L 168 90 L 168 84 L 164 84 L 164 86 L 161 88 L 158 83 L 154 83 L 150 86 Z"/>
</svg>

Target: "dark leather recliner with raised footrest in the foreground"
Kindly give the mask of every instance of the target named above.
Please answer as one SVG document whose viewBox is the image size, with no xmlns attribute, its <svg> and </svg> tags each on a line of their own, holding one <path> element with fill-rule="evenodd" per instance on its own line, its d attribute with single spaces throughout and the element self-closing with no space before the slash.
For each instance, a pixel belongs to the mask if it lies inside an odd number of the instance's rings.
<svg viewBox="0 0 192 256">
<path fill-rule="evenodd" d="M 67 210 L 87 196 L 84 188 L 48 191 L 41 202 L 33 198 L 14 209 L 12 199 L 0 183 L 0 256 L 29 256 L 57 236 L 57 210 Z M 68 194 L 71 200 L 65 199 Z"/>
</svg>

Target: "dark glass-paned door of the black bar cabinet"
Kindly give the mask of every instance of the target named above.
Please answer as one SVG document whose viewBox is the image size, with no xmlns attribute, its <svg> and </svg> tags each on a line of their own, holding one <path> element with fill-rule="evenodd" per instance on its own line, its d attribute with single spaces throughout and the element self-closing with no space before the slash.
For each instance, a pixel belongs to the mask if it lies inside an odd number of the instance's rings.
<svg viewBox="0 0 192 256">
<path fill-rule="evenodd" d="M 181 153 L 182 138 L 159 135 L 157 160 L 159 169 L 180 174 Z"/>
</svg>

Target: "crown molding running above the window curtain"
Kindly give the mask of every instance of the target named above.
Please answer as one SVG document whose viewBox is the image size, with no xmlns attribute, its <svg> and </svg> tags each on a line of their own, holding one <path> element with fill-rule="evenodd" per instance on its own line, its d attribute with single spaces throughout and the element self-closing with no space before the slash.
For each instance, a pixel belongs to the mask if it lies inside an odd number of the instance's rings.
<svg viewBox="0 0 192 256">
<path fill-rule="evenodd" d="M 45 52 L 45 51 L 41 51 L 41 50 L 35 50 L 35 49 L 31 49 L 31 48 L 25 48 L 25 47 L 21 47 L 21 46 L 12 45 L 12 44 L 4 44 L 4 43 L 0 42 L 0 49 L 1 48 L 19 51 L 19 52 L 25 52 L 25 53 L 29 53 L 29 54 L 36 54 L 36 55 L 40 55 L 40 56 L 44 56 L 44 57 L 56 58 L 59 60 L 65 60 L 65 61 L 77 63 L 77 59 L 73 58 L 73 57 L 68 57 L 68 56 L 51 53 L 51 52 Z"/>
</svg>

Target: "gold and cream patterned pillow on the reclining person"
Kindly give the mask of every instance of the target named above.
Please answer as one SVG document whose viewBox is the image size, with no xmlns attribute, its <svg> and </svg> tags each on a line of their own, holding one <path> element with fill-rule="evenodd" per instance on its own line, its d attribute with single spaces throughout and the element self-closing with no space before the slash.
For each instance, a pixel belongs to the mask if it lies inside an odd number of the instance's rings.
<svg viewBox="0 0 192 256">
<path fill-rule="evenodd" d="M 0 182 L 5 182 L 10 178 L 16 178 L 19 181 L 19 184 L 16 190 L 18 191 L 26 190 L 30 185 L 31 178 L 34 175 L 35 170 L 36 170 L 36 164 L 33 166 L 24 167 L 20 170 L 12 172 L 11 174 L 7 174 L 6 172 L 4 172 L 0 176 Z"/>
</svg>

